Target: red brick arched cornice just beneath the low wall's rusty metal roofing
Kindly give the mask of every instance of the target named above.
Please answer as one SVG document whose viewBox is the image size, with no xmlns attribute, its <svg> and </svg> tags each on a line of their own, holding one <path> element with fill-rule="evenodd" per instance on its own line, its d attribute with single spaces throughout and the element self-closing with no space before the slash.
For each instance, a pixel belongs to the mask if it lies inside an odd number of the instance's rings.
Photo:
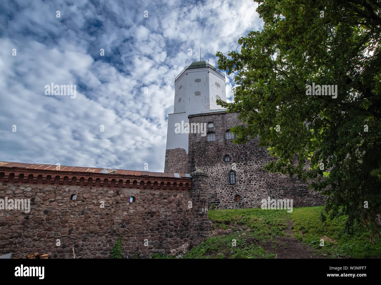
<svg viewBox="0 0 381 285">
<path fill-rule="evenodd" d="M 191 178 L 187 177 L 155 177 L 4 166 L 0 166 L 0 182 L 179 191 L 189 190 L 192 185 Z"/>
</svg>

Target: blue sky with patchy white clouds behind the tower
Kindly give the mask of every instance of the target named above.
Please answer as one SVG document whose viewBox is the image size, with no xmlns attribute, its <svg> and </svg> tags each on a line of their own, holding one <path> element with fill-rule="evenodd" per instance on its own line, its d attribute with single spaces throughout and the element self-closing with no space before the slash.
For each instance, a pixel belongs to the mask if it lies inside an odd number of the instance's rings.
<svg viewBox="0 0 381 285">
<path fill-rule="evenodd" d="M 173 75 L 200 47 L 215 66 L 216 51 L 239 51 L 238 38 L 263 25 L 256 7 L 2 0 L 0 161 L 162 172 Z M 76 85 L 76 97 L 46 96 L 51 82 Z M 229 100 L 233 76 L 226 83 Z"/>
</svg>

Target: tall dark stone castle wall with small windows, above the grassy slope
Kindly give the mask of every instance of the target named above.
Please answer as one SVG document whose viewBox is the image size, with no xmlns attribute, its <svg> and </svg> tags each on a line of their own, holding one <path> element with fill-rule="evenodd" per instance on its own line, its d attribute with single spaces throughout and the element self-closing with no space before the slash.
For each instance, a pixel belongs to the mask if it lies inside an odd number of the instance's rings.
<svg viewBox="0 0 381 285">
<path fill-rule="evenodd" d="M 263 170 L 273 159 L 266 147 L 258 147 L 259 137 L 246 144 L 234 144 L 226 139 L 226 131 L 242 124 L 238 113 L 219 112 L 189 116 L 189 123 L 213 122 L 216 141 L 208 142 L 207 136 L 189 134 L 188 172 L 200 169 L 209 175 L 209 208 L 261 207 L 262 199 L 293 199 L 293 207 L 322 205 L 325 198 L 308 189 L 296 176 L 290 178 L 280 173 Z M 230 161 L 224 162 L 229 155 Z M 229 183 L 229 173 L 235 171 L 236 184 Z M 240 201 L 235 197 L 239 195 Z"/>
</svg>

